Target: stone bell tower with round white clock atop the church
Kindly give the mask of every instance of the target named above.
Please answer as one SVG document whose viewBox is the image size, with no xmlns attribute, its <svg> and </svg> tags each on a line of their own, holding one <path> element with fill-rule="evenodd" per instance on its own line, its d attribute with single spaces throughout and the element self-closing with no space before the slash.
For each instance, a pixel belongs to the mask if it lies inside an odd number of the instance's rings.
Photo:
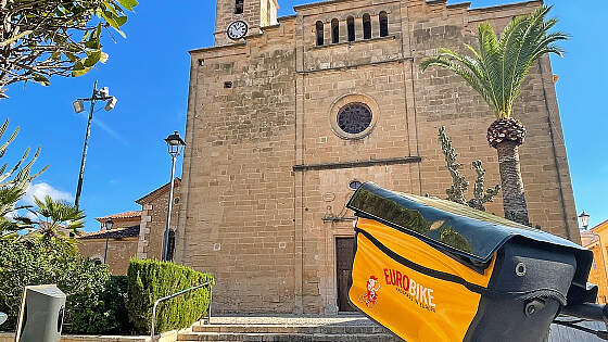
<svg viewBox="0 0 608 342">
<path fill-rule="evenodd" d="M 277 0 L 217 0 L 215 46 L 241 41 L 261 34 L 261 27 L 278 24 Z"/>
</svg>

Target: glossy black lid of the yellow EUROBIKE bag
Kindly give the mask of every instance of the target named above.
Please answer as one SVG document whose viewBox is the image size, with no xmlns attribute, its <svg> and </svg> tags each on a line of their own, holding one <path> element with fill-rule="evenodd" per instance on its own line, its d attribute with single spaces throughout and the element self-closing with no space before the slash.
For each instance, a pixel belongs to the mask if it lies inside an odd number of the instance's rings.
<svg viewBox="0 0 608 342">
<path fill-rule="evenodd" d="M 496 251 L 512 238 L 523 238 L 550 248 L 566 249 L 577 257 L 574 283 L 583 289 L 593 253 L 560 237 L 506 218 L 436 198 L 393 192 L 373 182 L 363 183 L 346 207 L 359 217 L 369 217 L 419 238 L 435 249 L 469 259 L 485 268 Z M 467 266 L 476 268 L 470 263 Z"/>
</svg>

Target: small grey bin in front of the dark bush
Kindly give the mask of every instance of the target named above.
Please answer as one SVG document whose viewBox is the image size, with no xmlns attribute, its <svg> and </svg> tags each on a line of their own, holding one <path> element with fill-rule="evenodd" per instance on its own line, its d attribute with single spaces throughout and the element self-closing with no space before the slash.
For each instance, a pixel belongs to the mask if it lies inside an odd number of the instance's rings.
<svg viewBox="0 0 608 342">
<path fill-rule="evenodd" d="M 61 340 L 65 293 L 56 286 L 26 287 L 18 319 L 17 342 Z"/>
</svg>

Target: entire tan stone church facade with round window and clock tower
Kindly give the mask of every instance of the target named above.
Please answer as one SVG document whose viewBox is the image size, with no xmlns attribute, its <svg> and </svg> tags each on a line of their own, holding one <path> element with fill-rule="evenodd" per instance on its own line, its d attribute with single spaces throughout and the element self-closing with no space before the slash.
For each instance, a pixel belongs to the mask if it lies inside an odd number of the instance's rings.
<svg viewBox="0 0 608 342">
<path fill-rule="evenodd" d="M 457 76 L 419 71 L 447 47 L 501 30 L 541 1 L 470 9 L 425 0 L 331 0 L 278 17 L 276 0 L 217 0 L 215 46 L 190 51 L 191 73 L 176 262 L 212 273 L 214 309 L 347 311 L 344 275 L 359 182 L 445 197 L 446 126 L 473 180 L 499 183 L 487 105 Z M 230 24 L 242 21 L 243 25 Z M 230 27 L 230 28 L 229 28 Z M 236 37 L 236 40 L 228 36 Z M 516 116 L 530 218 L 580 242 L 554 75 L 531 74 Z M 503 215 L 502 199 L 489 211 Z"/>
</svg>

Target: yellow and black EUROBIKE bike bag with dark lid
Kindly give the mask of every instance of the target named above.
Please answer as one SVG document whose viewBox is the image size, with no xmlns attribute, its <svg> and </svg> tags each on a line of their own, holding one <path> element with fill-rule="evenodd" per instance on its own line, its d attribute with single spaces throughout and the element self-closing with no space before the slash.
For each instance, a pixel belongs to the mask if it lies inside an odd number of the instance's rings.
<svg viewBox="0 0 608 342">
<path fill-rule="evenodd" d="M 561 306 L 597 295 L 593 254 L 541 230 L 371 182 L 347 207 L 350 301 L 408 342 L 537 342 Z"/>
</svg>

